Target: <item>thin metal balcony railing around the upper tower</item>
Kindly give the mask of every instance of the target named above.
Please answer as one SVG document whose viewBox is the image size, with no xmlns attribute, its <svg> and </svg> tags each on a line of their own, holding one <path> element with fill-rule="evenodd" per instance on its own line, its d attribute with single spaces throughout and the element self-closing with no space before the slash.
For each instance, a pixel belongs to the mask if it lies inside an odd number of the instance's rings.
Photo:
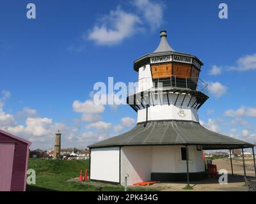
<svg viewBox="0 0 256 204">
<path fill-rule="evenodd" d="M 127 96 L 143 91 L 153 91 L 154 89 L 184 89 L 188 91 L 200 91 L 207 95 L 207 87 L 208 84 L 200 78 L 181 77 L 177 75 L 145 77 L 127 85 Z"/>
</svg>

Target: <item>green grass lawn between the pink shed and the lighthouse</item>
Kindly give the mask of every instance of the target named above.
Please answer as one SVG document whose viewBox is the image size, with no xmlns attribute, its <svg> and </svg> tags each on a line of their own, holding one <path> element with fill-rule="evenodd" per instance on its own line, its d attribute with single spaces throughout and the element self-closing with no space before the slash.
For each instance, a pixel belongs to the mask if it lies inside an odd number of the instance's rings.
<svg viewBox="0 0 256 204">
<path fill-rule="evenodd" d="M 95 186 L 67 180 L 79 177 L 80 170 L 89 169 L 88 160 L 29 159 L 28 169 L 36 171 L 36 185 L 27 185 L 27 191 L 95 191 Z M 102 191 L 124 191 L 120 185 L 102 185 Z M 152 189 L 147 189 L 147 191 Z M 132 191 L 146 189 L 132 188 Z"/>
</svg>

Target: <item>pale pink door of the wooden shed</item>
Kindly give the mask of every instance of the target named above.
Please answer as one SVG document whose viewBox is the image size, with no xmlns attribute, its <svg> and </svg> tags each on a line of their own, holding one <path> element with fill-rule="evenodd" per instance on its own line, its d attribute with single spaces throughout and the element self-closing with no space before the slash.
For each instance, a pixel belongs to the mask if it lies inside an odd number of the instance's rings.
<svg viewBox="0 0 256 204">
<path fill-rule="evenodd" d="M 0 191 L 10 191 L 15 144 L 0 143 Z"/>
</svg>

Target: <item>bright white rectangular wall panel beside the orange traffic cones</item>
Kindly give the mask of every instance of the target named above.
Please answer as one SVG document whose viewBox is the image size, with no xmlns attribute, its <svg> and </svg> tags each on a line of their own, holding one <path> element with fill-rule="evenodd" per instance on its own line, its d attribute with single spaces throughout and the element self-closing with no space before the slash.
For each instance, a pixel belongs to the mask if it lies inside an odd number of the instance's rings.
<svg viewBox="0 0 256 204">
<path fill-rule="evenodd" d="M 119 147 L 91 149 L 90 179 L 119 182 Z"/>
</svg>

